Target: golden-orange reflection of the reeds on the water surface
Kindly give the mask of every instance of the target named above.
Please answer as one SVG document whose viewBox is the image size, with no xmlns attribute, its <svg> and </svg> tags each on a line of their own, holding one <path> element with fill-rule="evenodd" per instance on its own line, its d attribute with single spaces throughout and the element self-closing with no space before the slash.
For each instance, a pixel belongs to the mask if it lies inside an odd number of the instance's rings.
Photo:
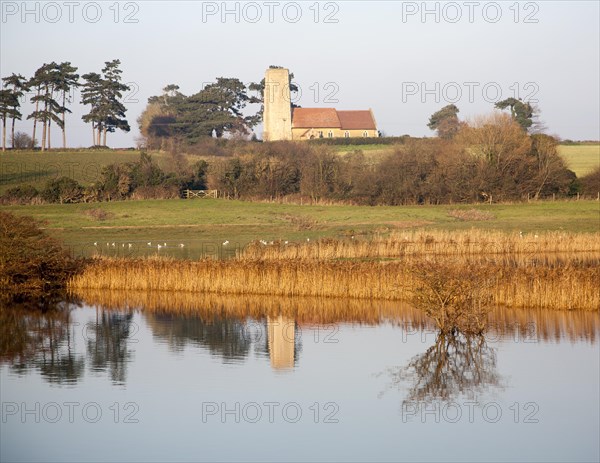
<svg viewBox="0 0 600 463">
<path fill-rule="evenodd" d="M 256 295 L 197 294 L 171 291 L 81 290 L 78 294 L 90 305 L 114 310 L 143 310 L 148 314 L 184 317 L 262 319 L 284 317 L 300 325 L 389 322 L 403 327 L 409 336 L 436 331 L 422 311 L 395 301 L 337 298 L 286 298 Z M 495 336 L 515 342 L 586 339 L 595 342 L 600 332 L 600 315 L 589 311 L 492 308 L 488 338 Z"/>
</svg>

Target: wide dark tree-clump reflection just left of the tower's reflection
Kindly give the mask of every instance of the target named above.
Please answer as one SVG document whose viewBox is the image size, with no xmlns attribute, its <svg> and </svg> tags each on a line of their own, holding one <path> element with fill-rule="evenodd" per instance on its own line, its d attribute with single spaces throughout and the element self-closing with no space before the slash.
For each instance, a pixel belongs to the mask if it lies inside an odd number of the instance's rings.
<svg viewBox="0 0 600 463">
<path fill-rule="evenodd" d="M 246 357 L 252 345 L 245 323 L 240 320 L 163 314 L 148 317 L 154 336 L 167 341 L 175 350 L 182 350 L 188 344 L 198 345 L 224 360 L 235 360 Z"/>
</svg>

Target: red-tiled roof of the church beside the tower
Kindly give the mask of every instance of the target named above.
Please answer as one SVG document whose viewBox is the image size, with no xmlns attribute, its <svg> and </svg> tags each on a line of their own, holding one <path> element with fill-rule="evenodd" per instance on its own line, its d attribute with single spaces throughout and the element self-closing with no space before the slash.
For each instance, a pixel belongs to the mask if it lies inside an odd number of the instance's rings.
<svg viewBox="0 0 600 463">
<path fill-rule="evenodd" d="M 341 130 L 375 130 L 370 110 L 337 111 L 334 108 L 294 108 L 292 128 L 338 128 Z"/>
</svg>

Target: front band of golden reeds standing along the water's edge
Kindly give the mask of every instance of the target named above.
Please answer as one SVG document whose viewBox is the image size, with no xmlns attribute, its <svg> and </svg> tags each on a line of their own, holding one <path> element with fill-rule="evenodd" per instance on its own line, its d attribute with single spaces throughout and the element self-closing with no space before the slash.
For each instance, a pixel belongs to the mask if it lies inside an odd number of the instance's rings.
<svg viewBox="0 0 600 463">
<path fill-rule="evenodd" d="M 444 259 L 449 268 L 461 262 Z M 492 302 L 510 307 L 598 310 L 600 267 L 567 262 L 527 265 L 482 261 L 495 275 Z M 219 294 L 408 300 L 419 284 L 406 262 L 338 260 L 96 259 L 70 282 L 71 290 L 127 289 Z"/>
</svg>

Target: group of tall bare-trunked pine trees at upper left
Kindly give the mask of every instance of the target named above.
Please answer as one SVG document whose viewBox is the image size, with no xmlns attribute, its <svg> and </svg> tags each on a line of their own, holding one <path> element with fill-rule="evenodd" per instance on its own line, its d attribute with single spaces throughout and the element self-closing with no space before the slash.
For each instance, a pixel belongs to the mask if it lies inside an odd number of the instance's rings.
<svg viewBox="0 0 600 463">
<path fill-rule="evenodd" d="M 41 130 L 41 150 L 51 148 L 51 129 L 56 125 L 62 131 L 63 148 L 67 147 L 66 115 L 71 113 L 73 91 L 81 88 L 81 103 L 89 106 L 89 113 L 82 116 L 84 122 L 92 126 L 94 145 L 106 145 L 107 132 L 116 129 L 129 132 L 125 118 L 127 108 L 122 103 L 123 93 L 130 89 L 122 83 L 118 59 L 106 61 L 100 73 L 90 72 L 80 76 L 78 68 L 70 62 L 44 63 L 26 78 L 21 74 L 3 77 L 0 90 L 0 118 L 2 119 L 2 151 L 6 150 L 7 121 L 11 121 L 11 145 L 19 144 L 15 134 L 15 121 L 22 120 L 21 101 L 24 95 L 32 92 L 30 102 L 34 110 L 27 116 L 33 120 L 33 132 L 29 148 L 37 143 L 38 126 Z M 83 81 L 80 80 L 83 79 Z"/>
</svg>

